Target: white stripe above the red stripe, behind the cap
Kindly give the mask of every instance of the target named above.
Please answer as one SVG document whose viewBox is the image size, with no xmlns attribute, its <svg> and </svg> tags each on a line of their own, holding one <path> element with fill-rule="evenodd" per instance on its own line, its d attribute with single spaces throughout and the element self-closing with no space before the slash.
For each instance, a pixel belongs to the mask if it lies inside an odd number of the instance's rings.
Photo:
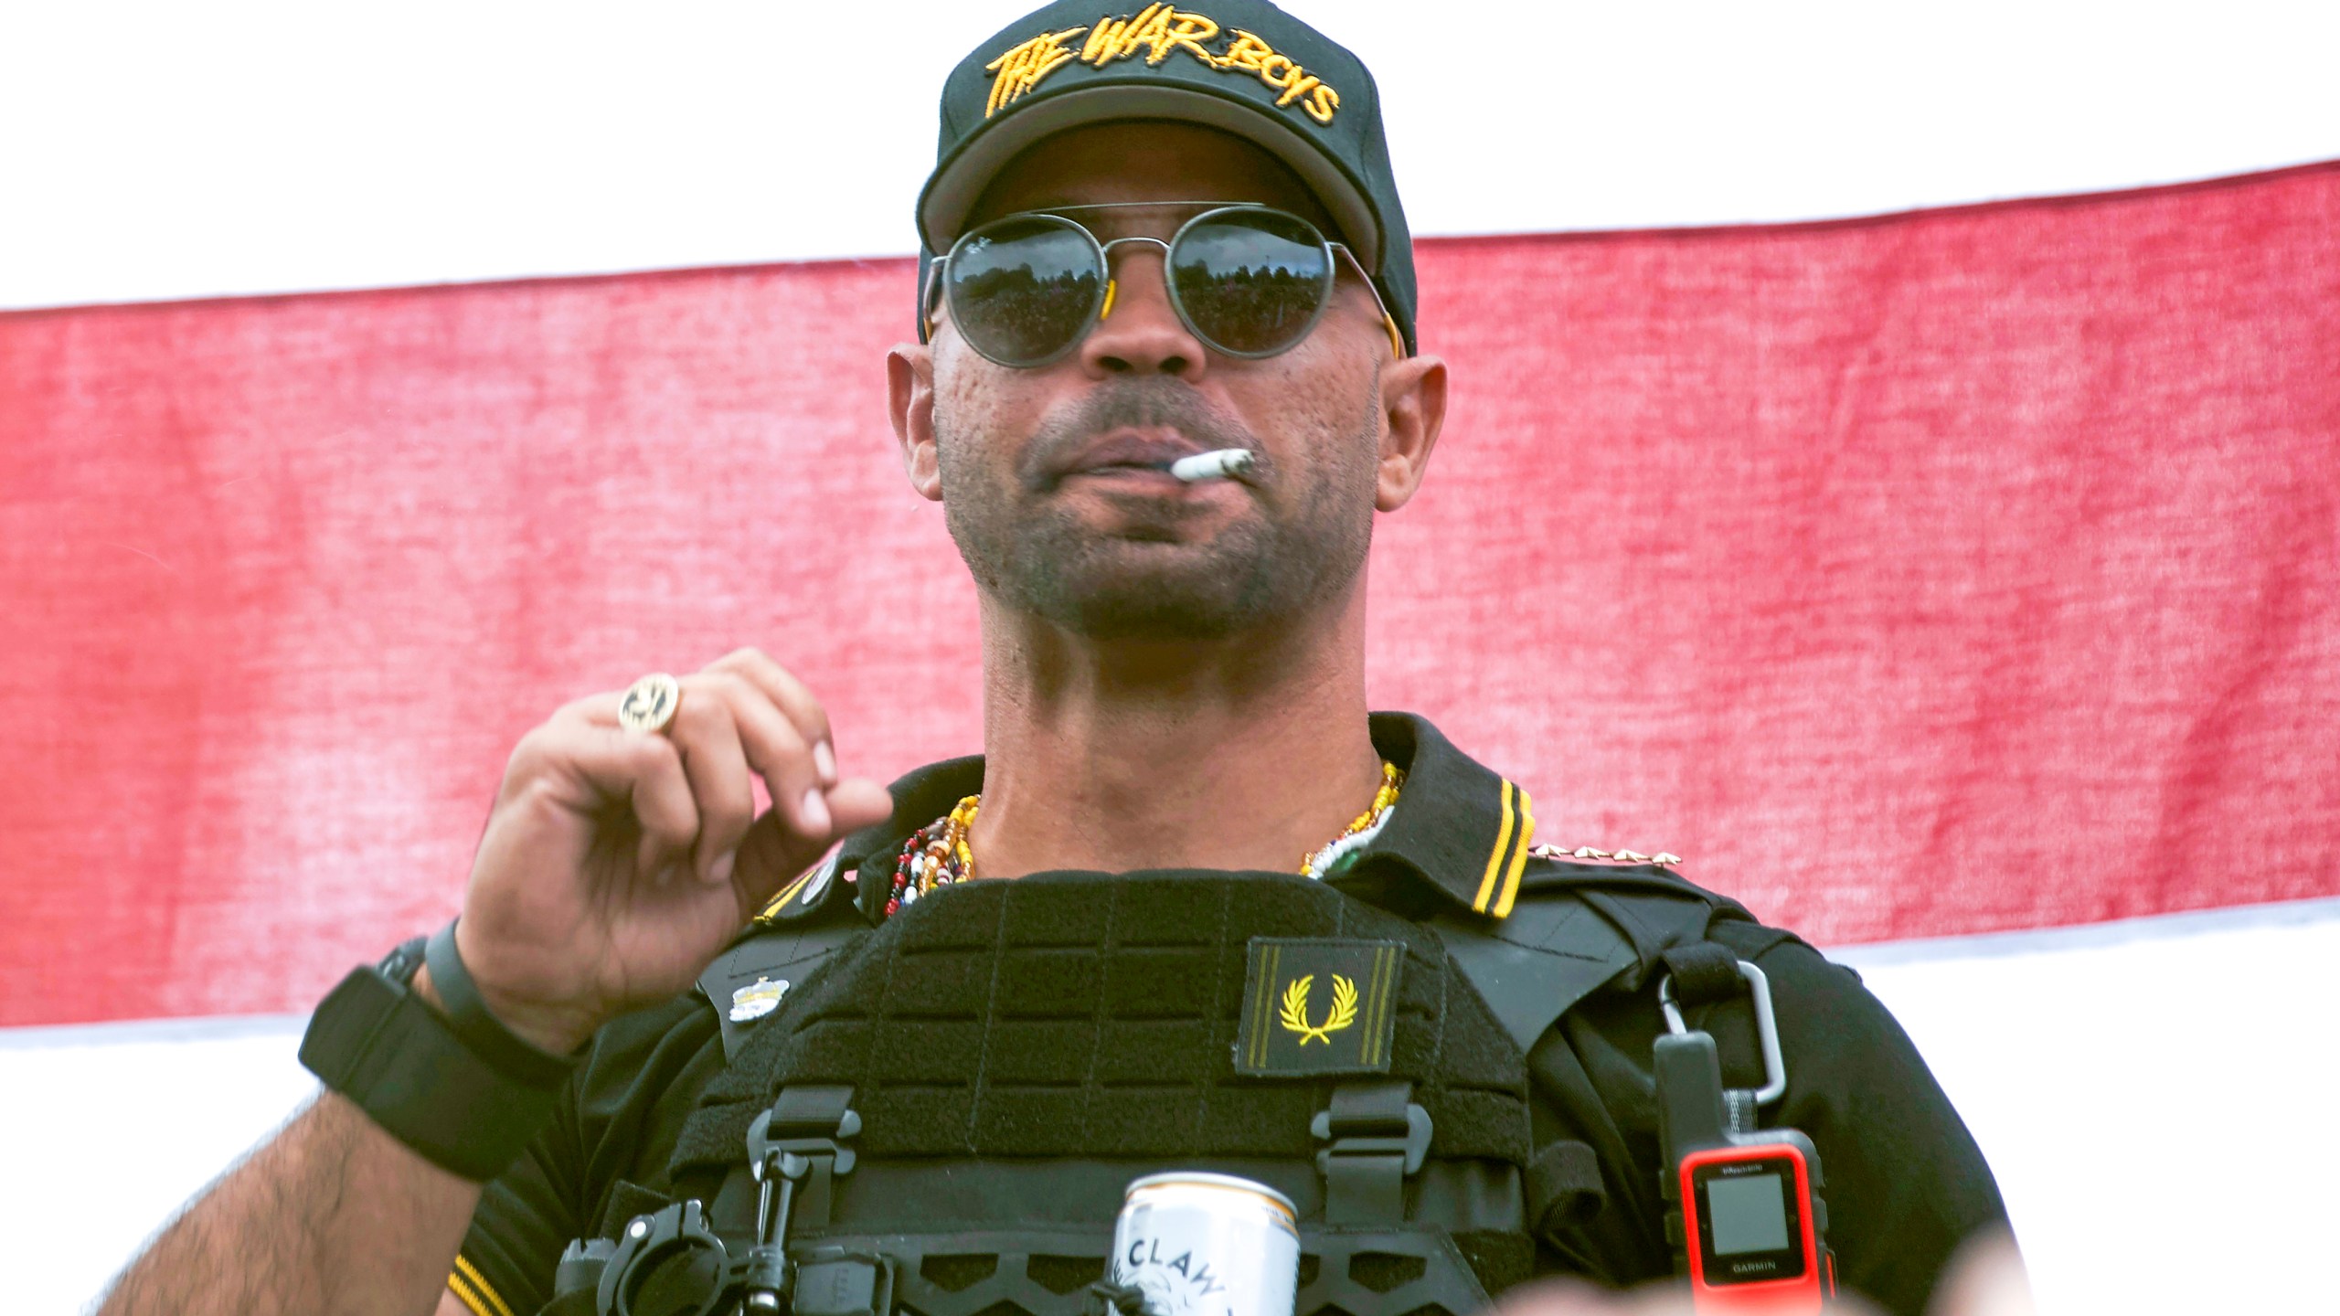
<svg viewBox="0 0 2340 1316">
<path fill-rule="evenodd" d="M 37 129 L 0 133 L 0 307 L 906 253 L 943 73 L 1027 7 L 910 0 L 840 42 L 758 0 L 14 5 L 0 122 Z M 2333 5 L 1289 7 L 1376 70 L 1425 234 L 2340 155 Z"/>
</svg>

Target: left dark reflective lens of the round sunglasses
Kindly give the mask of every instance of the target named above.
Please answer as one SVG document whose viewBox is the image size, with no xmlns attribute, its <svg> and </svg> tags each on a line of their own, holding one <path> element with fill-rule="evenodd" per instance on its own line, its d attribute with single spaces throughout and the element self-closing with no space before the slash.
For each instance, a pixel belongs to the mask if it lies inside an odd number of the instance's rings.
<svg viewBox="0 0 2340 1316">
<path fill-rule="evenodd" d="M 1102 295 L 1095 244 L 1062 220 L 1004 220 L 969 234 L 950 255 L 950 321 L 969 347 L 1004 365 L 1062 351 L 1081 337 Z"/>
</svg>

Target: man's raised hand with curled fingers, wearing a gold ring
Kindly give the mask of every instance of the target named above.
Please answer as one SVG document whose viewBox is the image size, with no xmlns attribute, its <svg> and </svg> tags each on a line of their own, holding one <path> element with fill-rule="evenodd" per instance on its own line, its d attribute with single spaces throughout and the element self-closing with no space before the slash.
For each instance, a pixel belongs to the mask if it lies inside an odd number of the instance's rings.
<svg viewBox="0 0 2340 1316">
<path fill-rule="evenodd" d="M 782 883 L 892 810 L 838 777 L 828 714 L 753 649 L 683 677 L 665 733 L 622 728 L 620 698 L 512 749 L 456 927 L 487 1007 L 548 1051 L 690 986 Z"/>
</svg>

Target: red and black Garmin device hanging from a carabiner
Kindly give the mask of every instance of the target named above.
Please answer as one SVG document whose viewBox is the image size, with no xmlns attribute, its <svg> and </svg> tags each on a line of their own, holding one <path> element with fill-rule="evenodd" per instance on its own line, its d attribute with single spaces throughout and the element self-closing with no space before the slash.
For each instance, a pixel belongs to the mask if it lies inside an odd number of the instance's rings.
<svg viewBox="0 0 2340 1316">
<path fill-rule="evenodd" d="M 1755 1112 L 1788 1091 L 1762 969 L 1741 962 L 1755 988 L 1764 1087 L 1725 1091 L 1708 1033 L 1682 1026 L 1671 981 L 1659 983 L 1668 1033 L 1657 1040 L 1657 1108 L 1666 1143 L 1661 1190 L 1675 1211 L 1666 1236 L 1701 1314 L 1816 1314 L 1837 1295 L 1821 1201 L 1821 1152 L 1795 1129 L 1753 1129 Z"/>
</svg>

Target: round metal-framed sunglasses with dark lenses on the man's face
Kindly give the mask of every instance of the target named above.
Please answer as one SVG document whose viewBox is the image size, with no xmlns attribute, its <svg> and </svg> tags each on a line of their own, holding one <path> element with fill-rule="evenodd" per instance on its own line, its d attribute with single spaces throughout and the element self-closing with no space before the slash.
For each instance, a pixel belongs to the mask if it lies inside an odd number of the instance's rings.
<svg viewBox="0 0 2340 1316">
<path fill-rule="evenodd" d="M 1097 241 L 1079 211 L 1210 206 L 1179 225 L 1170 241 L 1116 237 Z M 1308 220 L 1257 204 L 1133 201 L 1112 206 L 1058 206 L 1004 215 L 959 234 L 936 265 L 927 293 L 927 330 L 936 302 L 950 323 L 987 361 L 1039 368 L 1062 361 L 1088 330 L 1114 311 L 1112 251 L 1144 244 L 1163 248 L 1170 307 L 1212 351 L 1261 358 L 1289 351 L 1331 304 L 1338 276 L 1334 253 L 1364 279 L 1381 307 L 1390 349 L 1406 354 L 1406 340 L 1381 300 L 1381 288 L 1357 255 L 1329 241 Z"/>
</svg>

